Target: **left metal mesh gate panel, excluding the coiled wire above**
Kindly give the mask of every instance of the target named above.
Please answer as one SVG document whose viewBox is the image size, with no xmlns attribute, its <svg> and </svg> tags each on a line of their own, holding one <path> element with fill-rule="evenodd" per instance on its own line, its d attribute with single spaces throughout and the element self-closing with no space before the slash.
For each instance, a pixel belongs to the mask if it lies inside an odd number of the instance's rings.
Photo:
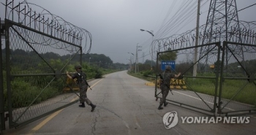
<svg viewBox="0 0 256 135">
<path fill-rule="evenodd" d="M 78 96 L 64 93 L 63 88 L 67 86 L 69 63 L 75 63 L 71 60 L 78 56 L 77 63 L 81 63 L 82 48 L 11 20 L 5 20 L 5 27 L 7 98 L 4 107 L 8 110 L 10 128 L 78 101 Z M 76 53 L 70 54 L 69 50 Z M 63 55 L 67 58 L 63 59 Z"/>
</svg>

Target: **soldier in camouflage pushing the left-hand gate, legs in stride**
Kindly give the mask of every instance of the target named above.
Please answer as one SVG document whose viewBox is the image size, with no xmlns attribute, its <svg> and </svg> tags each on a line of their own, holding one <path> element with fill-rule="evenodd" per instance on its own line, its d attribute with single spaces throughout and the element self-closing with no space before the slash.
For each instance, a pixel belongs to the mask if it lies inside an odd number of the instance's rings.
<svg viewBox="0 0 256 135">
<path fill-rule="evenodd" d="M 86 81 L 86 73 L 82 72 L 82 66 L 78 65 L 75 66 L 75 74 L 72 74 L 72 76 L 69 75 L 69 72 L 67 72 L 67 77 L 70 79 L 77 79 L 79 89 L 80 89 L 80 105 L 79 107 L 86 107 L 84 102 L 86 101 L 86 104 L 91 106 L 91 112 L 94 111 L 96 105 L 92 104 L 91 101 L 87 98 L 86 92 L 88 89 L 88 82 Z"/>
</svg>

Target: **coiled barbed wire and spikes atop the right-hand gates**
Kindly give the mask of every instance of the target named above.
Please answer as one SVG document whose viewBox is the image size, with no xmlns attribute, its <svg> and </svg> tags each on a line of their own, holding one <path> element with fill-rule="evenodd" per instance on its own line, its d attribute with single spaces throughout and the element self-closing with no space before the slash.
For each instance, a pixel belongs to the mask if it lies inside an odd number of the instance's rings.
<svg viewBox="0 0 256 135">
<path fill-rule="evenodd" d="M 256 45 L 256 21 L 246 22 L 239 21 L 240 28 L 231 27 L 227 30 L 228 39 L 226 40 L 225 28 L 215 28 L 214 30 L 204 31 L 206 25 L 202 25 L 198 32 L 198 44 L 203 45 L 211 42 L 238 42 L 241 44 Z M 167 50 L 178 50 L 185 47 L 194 47 L 196 38 L 196 29 L 192 29 L 184 32 L 183 34 L 175 34 L 172 36 L 165 37 L 163 39 L 155 39 L 151 42 L 151 53 L 154 59 L 157 58 L 156 52 L 163 52 Z M 241 47 L 233 48 L 236 53 L 241 50 Z M 182 50 L 182 53 L 192 53 L 192 50 Z M 185 52 L 184 52 L 185 51 Z M 186 52 L 187 51 L 187 52 Z M 206 53 L 206 47 L 201 48 L 200 53 Z M 243 51 L 256 51 L 252 50 L 251 47 L 243 47 Z"/>
</svg>

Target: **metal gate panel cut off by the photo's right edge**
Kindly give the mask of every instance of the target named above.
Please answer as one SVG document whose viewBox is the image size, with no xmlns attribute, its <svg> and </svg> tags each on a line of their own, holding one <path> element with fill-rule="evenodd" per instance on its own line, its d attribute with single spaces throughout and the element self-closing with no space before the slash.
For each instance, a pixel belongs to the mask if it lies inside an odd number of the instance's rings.
<svg viewBox="0 0 256 135">
<path fill-rule="evenodd" d="M 223 42 L 219 114 L 241 115 L 256 110 L 256 46 Z"/>
</svg>

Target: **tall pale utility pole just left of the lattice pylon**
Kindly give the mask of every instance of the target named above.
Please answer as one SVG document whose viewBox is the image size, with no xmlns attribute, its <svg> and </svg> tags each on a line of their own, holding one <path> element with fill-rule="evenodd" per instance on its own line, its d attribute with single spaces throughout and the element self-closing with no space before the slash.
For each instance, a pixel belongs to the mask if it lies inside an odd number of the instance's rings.
<svg viewBox="0 0 256 135">
<path fill-rule="evenodd" d="M 198 45 L 198 32 L 199 32 L 199 20 L 200 20 L 200 0 L 197 2 L 197 27 L 195 32 L 195 55 L 194 55 L 194 68 L 193 77 L 197 76 L 197 45 Z"/>
</svg>

